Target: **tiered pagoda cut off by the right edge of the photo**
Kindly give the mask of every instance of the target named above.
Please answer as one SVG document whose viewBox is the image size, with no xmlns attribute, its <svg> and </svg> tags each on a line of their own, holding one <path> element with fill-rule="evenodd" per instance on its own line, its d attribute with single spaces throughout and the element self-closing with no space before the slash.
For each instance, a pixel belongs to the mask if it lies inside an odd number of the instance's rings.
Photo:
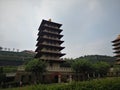
<svg viewBox="0 0 120 90">
<path fill-rule="evenodd" d="M 115 57 L 116 57 L 116 64 L 120 64 L 120 35 L 118 35 L 118 37 L 112 41 L 113 46 L 114 46 L 114 50 L 115 50 Z"/>
</svg>

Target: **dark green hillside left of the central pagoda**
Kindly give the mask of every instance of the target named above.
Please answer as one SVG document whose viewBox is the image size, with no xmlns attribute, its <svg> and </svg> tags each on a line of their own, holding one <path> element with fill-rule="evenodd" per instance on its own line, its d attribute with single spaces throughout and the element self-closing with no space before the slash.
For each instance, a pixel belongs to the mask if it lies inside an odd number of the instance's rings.
<svg viewBox="0 0 120 90">
<path fill-rule="evenodd" d="M 0 51 L 0 66 L 22 65 L 34 57 L 35 53 L 30 51 L 12 52 Z"/>
</svg>

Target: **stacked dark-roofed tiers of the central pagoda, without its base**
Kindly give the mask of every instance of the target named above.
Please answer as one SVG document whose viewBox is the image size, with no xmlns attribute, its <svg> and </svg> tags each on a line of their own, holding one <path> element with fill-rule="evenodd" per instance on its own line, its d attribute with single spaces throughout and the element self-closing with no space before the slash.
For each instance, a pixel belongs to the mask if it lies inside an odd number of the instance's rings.
<svg viewBox="0 0 120 90">
<path fill-rule="evenodd" d="M 60 34 L 62 32 L 62 29 L 60 29 L 61 26 L 61 24 L 51 22 L 51 20 L 42 20 L 38 29 L 37 54 L 35 58 L 49 62 L 62 61 L 60 57 L 65 54 L 61 53 L 61 50 L 64 49 L 64 47 L 60 46 L 64 42 L 60 40 L 63 37 Z"/>
</svg>

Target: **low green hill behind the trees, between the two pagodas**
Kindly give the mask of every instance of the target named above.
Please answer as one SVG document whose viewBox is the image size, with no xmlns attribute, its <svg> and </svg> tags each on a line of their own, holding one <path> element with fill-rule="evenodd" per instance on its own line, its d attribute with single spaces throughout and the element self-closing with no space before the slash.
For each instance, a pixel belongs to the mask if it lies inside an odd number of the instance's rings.
<svg viewBox="0 0 120 90">
<path fill-rule="evenodd" d="M 75 58 L 75 59 L 64 58 L 64 60 L 66 62 L 61 63 L 60 64 L 61 67 L 71 67 L 71 63 L 75 60 L 89 60 L 92 63 L 97 63 L 97 62 L 103 61 L 103 62 L 109 63 L 111 66 L 114 66 L 114 64 L 115 64 L 115 57 L 106 56 L 106 55 L 86 55 L 86 56 L 81 56 L 81 57 Z"/>
</svg>

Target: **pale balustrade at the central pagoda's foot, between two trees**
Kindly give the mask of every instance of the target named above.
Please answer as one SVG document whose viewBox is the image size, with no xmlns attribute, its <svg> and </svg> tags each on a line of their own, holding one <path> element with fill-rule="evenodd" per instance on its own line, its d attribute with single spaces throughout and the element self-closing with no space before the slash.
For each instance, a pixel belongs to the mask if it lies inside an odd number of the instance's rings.
<svg viewBox="0 0 120 90">
<path fill-rule="evenodd" d="M 72 72 L 72 69 L 69 67 L 47 67 L 47 71 L 59 71 L 59 72 Z"/>
</svg>

